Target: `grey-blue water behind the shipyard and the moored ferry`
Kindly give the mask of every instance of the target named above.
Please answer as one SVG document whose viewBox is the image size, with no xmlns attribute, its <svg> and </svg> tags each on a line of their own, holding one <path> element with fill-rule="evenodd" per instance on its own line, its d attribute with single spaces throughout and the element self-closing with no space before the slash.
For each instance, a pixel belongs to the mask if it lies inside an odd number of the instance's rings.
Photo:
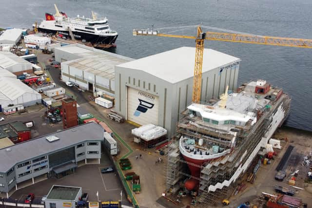
<svg viewBox="0 0 312 208">
<path fill-rule="evenodd" d="M 119 33 L 114 53 L 141 58 L 195 41 L 177 38 L 133 37 L 134 28 L 202 23 L 211 27 L 257 35 L 312 38 L 311 0 L 1 0 L 0 27 L 30 28 L 44 13 L 55 13 L 53 3 L 69 17 L 91 11 L 109 19 Z M 4 6 L 3 6 L 4 5 Z M 182 31 L 194 35 L 195 30 Z M 181 33 L 180 33 L 181 34 Z M 310 130 L 312 117 L 312 49 L 206 41 L 212 48 L 242 59 L 238 83 L 266 79 L 292 96 L 286 125 Z M 173 60 L 174 61 L 174 60 Z M 190 69 L 193 70 L 193 69 Z"/>
</svg>

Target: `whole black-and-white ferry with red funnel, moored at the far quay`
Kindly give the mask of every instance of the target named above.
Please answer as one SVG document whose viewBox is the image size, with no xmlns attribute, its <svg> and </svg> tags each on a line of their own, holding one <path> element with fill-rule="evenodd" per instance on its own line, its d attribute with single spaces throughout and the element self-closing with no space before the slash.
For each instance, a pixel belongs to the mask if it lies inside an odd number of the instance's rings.
<svg viewBox="0 0 312 208">
<path fill-rule="evenodd" d="M 69 18 L 66 13 L 59 12 L 54 4 L 56 14 L 45 13 L 45 20 L 38 26 L 38 31 L 43 33 L 60 34 L 64 37 L 85 40 L 91 43 L 114 44 L 118 33 L 110 29 L 107 18 L 98 18 L 92 12 L 92 19 L 84 16 Z M 71 34 L 72 33 L 72 34 Z"/>
</svg>

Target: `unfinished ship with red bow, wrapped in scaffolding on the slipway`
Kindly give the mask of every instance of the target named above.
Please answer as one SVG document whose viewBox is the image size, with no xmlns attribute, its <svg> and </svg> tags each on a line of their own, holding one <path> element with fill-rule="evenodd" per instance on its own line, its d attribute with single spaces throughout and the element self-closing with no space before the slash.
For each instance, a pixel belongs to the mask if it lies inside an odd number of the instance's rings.
<svg viewBox="0 0 312 208">
<path fill-rule="evenodd" d="M 265 80 L 189 105 L 168 145 L 167 194 L 184 190 L 201 204 L 228 198 L 290 105 L 291 97 Z"/>
</svg>

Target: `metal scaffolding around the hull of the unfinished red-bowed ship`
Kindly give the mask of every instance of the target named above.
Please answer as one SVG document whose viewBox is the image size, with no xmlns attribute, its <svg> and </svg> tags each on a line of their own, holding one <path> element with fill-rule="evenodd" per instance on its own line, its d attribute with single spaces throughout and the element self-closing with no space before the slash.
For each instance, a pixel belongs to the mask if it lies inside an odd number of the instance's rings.
<svg viewBox="0 0 312 208">
<path fill-rule="evenodd" d="M 185 161 L 179 152 L 179 139 L 181 136 L 187 136 L 194 139 L 203 139 L 206 146 L 219 145 L 220 147 L 229 148 L 233 135 L 228 133 L 227 130 L 215 130 L 214 128 L 207 128 L 202 126 L 200 121 L 195 121 L 195 117 L 190 118 L 187 113 L 182 113 L 182 118 L 176 125 L 176 135 L 173 136 L 166 150 L 168 155 L 168 164 L 166 169 L 166 193 L 175 194 L 181 189 L 181 182 L 186 179 L 193 178 L 199 181 L 198 192 L 196 199 L 198 203 L 215 203 L 224 198 L 232 195 L 237 187 L 237 181 L 248 170 L 251 165 L 249 155 L 252 154 L 254 148 L 260 143 L 262 138 L 267 135 L 267 130 L 272 122 L 272 114 L 276 113 L 276 109 L 284 103 L 284 111 L 287 115 L 289 113 L 290 97 L 282 95 L 277 101 L 272 101 L 270 104 L 273 106 L 271 109 L 263 109 L 258 113 L 257 122 L 252 125 L 235 126 L 229 125 L 231 131 L 235 129 L 236 145 L 231 149 L 231 153 L 203 163 L 198 166 L 193 163 Z M 192 123 L 193 122 L 193 123 Z M 190 125 L 190 123 L 197 123 L 199 125 Z M 252 158 L 253 159 L 253 158 Z M 234 177 L 235 171 L 239 166 L 247 162 L 248 167 L 242 170 L 239 175 L 235 175 L 235 180 L 231 181 Z M 185 168 L 186 165 L 192 165 L 200 168 L 199 178 L 189 174 Z M 238 173 L 237 173 L 238 174 Z M 220 185 L 224 181 L 229 181 L 230 184 Z M 210 190 L 210 187 L 221 187 Z"/>
</svg>

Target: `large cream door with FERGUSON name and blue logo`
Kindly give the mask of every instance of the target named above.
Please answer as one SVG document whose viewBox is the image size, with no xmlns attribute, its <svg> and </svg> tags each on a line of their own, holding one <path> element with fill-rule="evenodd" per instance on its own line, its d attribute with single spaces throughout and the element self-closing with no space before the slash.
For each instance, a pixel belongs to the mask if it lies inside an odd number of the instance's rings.
<svg viewBox="0 0 312 208">
<path fill-rule="evenodd" d="M 140 125 L 158 125 L 158 96 L 128 87 L 128 120 Z"/>
</svg>

